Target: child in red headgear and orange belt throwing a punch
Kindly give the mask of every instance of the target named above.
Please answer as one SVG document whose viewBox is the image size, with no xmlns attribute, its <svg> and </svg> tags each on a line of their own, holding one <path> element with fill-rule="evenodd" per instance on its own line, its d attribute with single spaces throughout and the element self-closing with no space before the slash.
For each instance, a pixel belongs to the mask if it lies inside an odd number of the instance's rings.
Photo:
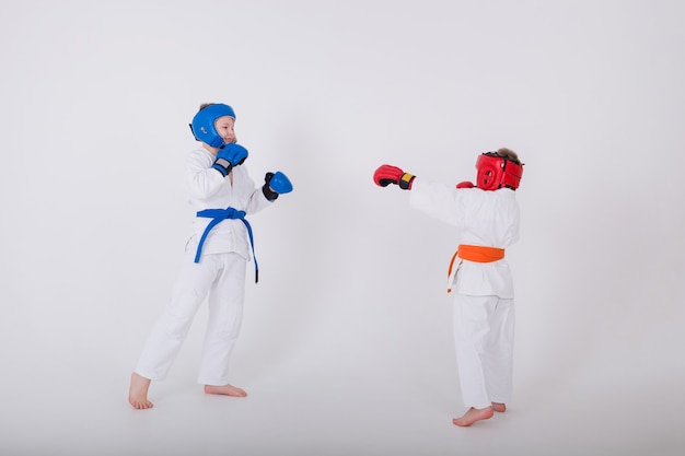
<svg viewBox="0 0 685 456">
<path fill-rule="evenodd" d="M 448 291 L 454 292 L 453 325 L 462 399 L 468 410 L 453 419 L 458 426 L 507 410 L 512 390 L 514 335 L 513 280 L 504 249 L 519 239 L 515 189 L 523 164 L 502 148 L 480 154 L 477 185 L 455 187 L 426 182 L 391 165 L 374 182 L 411 190 L 409 204 L 457 229 Z"/>
</svg>

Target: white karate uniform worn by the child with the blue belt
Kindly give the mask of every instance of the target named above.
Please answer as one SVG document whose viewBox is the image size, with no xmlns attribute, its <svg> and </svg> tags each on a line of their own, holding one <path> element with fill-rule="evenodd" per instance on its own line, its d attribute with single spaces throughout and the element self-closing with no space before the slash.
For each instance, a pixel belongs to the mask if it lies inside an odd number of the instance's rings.
<svg viewBox="0 0 685 456">
<path fill-rule="evenodd" d="M 200 148 L 186 161 L 185 185 L 195 212 L 229 207 L 255 213 L 270 204 L 247 174 L 235 166 L 230 177 L 211 167 L 214 155 Z M 211 219 L 196 218 L 186 244 L 183 265 L 171 300 L 146 342 L 135 372 L 160 381 L 166 377 L 199 306 L 209 294 L 209 323 L 198 383 L 227 385 L 229 359 L 240 332 L 245 296 L 245 269 L 251 258 L 247 229 L 241 220 L 227 219 L 207 235 L 199 262 L 198 242 Z"/>
</svg>

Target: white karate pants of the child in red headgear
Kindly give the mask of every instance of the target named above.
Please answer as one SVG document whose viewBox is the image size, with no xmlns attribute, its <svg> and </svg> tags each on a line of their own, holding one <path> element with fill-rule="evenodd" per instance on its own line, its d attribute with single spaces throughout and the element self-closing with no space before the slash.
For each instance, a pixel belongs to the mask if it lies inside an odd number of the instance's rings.
<svg viewBox="0 0 685 456">
<path fill-rule="evenodd" d="M 466 407 L 511 401 L 514 303 L 498 296 L 454 295 L 456 362 Z"/>
</svg>

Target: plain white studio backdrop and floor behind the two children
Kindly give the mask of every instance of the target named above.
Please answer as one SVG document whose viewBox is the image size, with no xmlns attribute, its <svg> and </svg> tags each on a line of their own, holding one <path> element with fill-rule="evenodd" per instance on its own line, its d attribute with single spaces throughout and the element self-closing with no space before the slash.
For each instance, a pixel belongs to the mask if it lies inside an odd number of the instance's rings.
<svg viewBox="0 0 685 456">
<path fill-rule="evenodd" d="M 685 7 L 587 1 L 0 2 L 0 453 L 681 455 Z M 193 218 L 202 102 L 256 182 L 233 383 L 201 311 L 152 410 L 130 372 Z M 518 151 L 514 400 L 458 429 L 450 226 L 372 182 Z M 248 269 L 248 278 L 251 269 Z"/>
</svg>

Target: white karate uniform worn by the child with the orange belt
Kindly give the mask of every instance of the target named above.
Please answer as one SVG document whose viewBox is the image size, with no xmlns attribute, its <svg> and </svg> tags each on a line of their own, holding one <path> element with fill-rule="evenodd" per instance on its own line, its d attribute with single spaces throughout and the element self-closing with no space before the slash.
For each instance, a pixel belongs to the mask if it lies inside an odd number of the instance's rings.
<svg viewBox="0 0 685 456">
<path fill-rule="evenodd" d="M 409 204 L 457 229 L 458 244 L 507 248 L 519 239 L 515 191 L 455 188 L 415 178 Z M 456 247 L 456 246 L 455 246 Z M 466 407 L 509 402 L 514 335 L 513 279 L 504 259 L 456 258 L 451 283 L 454 339 Z"/>
</svg>

